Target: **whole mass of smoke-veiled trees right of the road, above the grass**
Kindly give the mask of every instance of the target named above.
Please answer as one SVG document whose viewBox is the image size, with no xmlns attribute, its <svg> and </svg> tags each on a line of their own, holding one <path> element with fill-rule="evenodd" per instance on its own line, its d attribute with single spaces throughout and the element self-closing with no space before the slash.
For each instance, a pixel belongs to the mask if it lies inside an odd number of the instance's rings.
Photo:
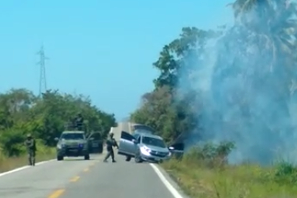
<svg viewBox="0 0 297 198">
<path fill-rule="evenodd" d="M 283 153 L 295 148 L 285 142 L 296 129 L 296 3 L 231 5 L 230 28 L 183 28 L 163 47 L 153 64 L 160 72 L 155 89 L 131 119 L 156 128 L 168 141 L 181 134 L 196 143 L 235 141 L 240 156 L 268 162 L 276 145 Z"/>
</svg>

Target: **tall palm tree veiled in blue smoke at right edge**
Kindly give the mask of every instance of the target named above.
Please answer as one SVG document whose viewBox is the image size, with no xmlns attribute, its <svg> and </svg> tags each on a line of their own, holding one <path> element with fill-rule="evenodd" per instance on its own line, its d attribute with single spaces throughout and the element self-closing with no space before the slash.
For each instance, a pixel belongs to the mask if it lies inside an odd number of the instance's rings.
<svg viewBox="0 0 297 198">
<path fill-rule="evenodd" d="M 258 87 L 253 90 L 257 91 L 260 87 L 265 102 L 270 102 L 268 104 L 274 110 L 280 110 L 274 115 L 269 107 L 264 107 L 267 132 L 274 137 L 281 131 L 292 133 L 283 120 L 290 118 L 289 104 L 292 102 L 292 91 L 297 87 L 296 3 L 287 0 L 236 0 L 229 5 L 233 8 L 236 26 L 243 27 L 252 35 L 252 39 L 247 39 L 246 47 L 255 45 L 260 53 L 254 56 L 257 60 L 251 63 L 255 64 L 251 66 L 260 74 L 258 79 L 252 77 L 252 80 L 258 80 L 255 83 Z M 264 57 L 268 57 L 267 62 L 263 61 Z M 279 123 L 279 127 L 270 128 L 275 123 Z"/>
</svg>

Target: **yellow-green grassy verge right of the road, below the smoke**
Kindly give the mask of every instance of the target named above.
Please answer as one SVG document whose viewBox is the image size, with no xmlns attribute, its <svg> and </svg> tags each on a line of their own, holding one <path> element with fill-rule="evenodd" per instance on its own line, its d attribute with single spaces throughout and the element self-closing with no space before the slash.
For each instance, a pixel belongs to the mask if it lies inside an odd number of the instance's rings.
<svg viewBox="0 0 297 198">
<path fill-rule="evenodd" d="M 290 164 L 264 168 L 255 164 L 231 166 L 209 162 L 186 156 L 162 166 L 192 198 L 297 197 L 297 168 Z"/>
</svg>

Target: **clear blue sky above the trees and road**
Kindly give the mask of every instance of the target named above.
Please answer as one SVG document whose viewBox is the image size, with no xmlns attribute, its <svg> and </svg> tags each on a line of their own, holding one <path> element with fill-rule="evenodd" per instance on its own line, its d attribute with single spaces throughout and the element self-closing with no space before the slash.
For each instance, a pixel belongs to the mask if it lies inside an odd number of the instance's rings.
<svg viewBox="0 0 297 198">
<path fill-rule="evenodd" d="M 48 88 L 89 95 L 118 119 L 153 89 L 152 67 L 181 28 L 232 21 L 231 0 L 9 0 L 0 3 L 0 92 L 39 90 L 43 44 Z"/>
</svg>

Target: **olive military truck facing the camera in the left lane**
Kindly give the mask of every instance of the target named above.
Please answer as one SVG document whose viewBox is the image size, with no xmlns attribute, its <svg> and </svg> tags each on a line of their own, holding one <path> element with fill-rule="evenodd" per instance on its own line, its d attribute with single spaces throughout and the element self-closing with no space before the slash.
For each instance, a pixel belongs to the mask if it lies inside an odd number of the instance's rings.
<svg viewBox="0 0 297 198">
<path fill-rule="evenodd" d="M 64 131 L 61 136 L 56 137 L 57 160 L 61 161 L 65 156 L 79 157 L 83 156 L 85 160 L 90 159 L 89 140 L 84 131 Z"/>
</svg>

